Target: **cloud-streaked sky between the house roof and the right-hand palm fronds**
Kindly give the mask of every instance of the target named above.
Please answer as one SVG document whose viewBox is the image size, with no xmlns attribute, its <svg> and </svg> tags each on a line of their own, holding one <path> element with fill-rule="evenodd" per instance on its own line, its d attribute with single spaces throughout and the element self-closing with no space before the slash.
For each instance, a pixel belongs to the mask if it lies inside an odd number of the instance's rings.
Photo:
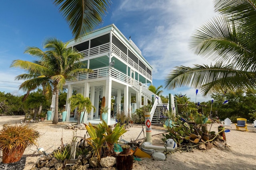
<svg viewBox="0 0 256 170">
<path fill-rule="evenodd" d="M 112 13 L 112 20 L 120 22 L 120 31 L 129 32 L 142 55 L 153 67 L 153 84 L 164 85 L 164 78 L 174 66 L 210 64 L 188 49 L 191 34 L 202 23 L 216 16 L 212 0 L 123 0 Z M 159 82 L 161 83 L 159 83 Z M 195 89 L 164 90 L 164 96 L 187 94 L 195 96 Z M 210 100 L 198 93 L 198 101 Z M 191 97 L 191 100 L 195 100 Z"/>
</svg>

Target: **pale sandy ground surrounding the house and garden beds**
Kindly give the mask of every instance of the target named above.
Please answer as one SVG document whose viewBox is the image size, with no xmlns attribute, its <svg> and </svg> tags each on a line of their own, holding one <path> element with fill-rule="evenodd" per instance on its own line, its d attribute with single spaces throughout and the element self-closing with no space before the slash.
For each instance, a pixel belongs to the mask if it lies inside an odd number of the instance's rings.
<svg viewBox="0 0 256 170">
<path fill-rule="evenodd" d="M 2 116 L 0 117 L 0 128 L 4 123 L 20 123 L 23 116 Z M 38 147 L 43 147 L 46 152 L 58 148 L 63 143 L 70 143 L 74 131 L 64 129 L 67 123 L 59 123 L 53 125 L 51 121 L 40 123 L 30 123 L 41 134 L 38 140 Z M 212 131 L 218 131 L 217 127 L 221 125 L 214 123 Z M 210 128 L 210 125 L 209 127 Z M 230 148 L 218 149 L 216 147 L 210 150 L 194 149 L 193 152 L 174 152 L 168 154 L 166 160 L 156 161 L 153 158 L 141 158 L 141 161 L 134 161 L 134 170 L 256 170 L 256 133 L 251 124 L 248 124 L 249 132 L 235 130 L 235 125 L 232 124 L 232 130 L 226 133 L 227 143 L 231 145 Z M 134 125 L 129 128 L 122 139 L 130 141 L 136 139 L 142 130 L 141 125 Z M 145 130 L 145 129 L 144 129 Z M 84 136 L 86 130 L 79 130 L 76 132 L 77 136 Z M 152 126 L 153 145 L 163 146 L 161 141 L 162 133 L 166 133 L 164 128 L 159 126 Z M 157 135 L 159 134 L 159 135 Z M 143 138 L 141 133 L 139 138 Z M 37 154 L 37 147 L 33 146 L 26 149 L 24 154 Z M 28 156 L 26 159 L 25 170 L 30 170 L 34 162 L 39 156 Z M 1 161 L 1 160 L 0 160 Z"/>
</svg>

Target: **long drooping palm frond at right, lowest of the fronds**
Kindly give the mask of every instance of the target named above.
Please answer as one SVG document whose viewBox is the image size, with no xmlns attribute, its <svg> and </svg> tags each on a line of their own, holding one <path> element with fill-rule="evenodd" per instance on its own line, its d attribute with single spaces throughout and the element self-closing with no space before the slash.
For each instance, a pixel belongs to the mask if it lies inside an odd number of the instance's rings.
<svg viewBox="0 0 256 170">
<path fill-rule="evenodd" d="M 165 80 L 165 88 L 168 90 L 190 86 L 192 88 L 202 89 L 204 96 L 212 92 L 224 90 L 245 90 L 246 88 L 255 88 L 255 73 L 236 70 L 232 65 L 197 65 L 193 68 L 178 66 L 172 70 Z"/>
</svg>

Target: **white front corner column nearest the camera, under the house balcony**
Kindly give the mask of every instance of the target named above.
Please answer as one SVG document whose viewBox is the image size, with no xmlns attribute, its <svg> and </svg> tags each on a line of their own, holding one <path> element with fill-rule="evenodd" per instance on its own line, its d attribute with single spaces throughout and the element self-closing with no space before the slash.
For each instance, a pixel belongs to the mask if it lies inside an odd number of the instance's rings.
<svg viewBox="0 0 256 170">
<path fill-rule="evenodd" d="M 109 78 L 106 80 L 106 87 L 105 87 L 106 106 L 108 106 L 108 121 L 107 121 L 108 125 L 110 125 L 110 117 L 111 117 L 111 87 L 112 87 L 112 79 Z"/>
</svg>

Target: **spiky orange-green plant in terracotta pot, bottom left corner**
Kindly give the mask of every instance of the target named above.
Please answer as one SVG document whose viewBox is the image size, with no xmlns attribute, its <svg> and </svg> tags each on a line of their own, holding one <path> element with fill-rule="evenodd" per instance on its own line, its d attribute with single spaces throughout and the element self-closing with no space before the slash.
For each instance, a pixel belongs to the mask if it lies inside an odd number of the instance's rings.
<svg viewBox="0 0 256 170">
<path fill-rule="evenodd" d="M 18 162 L 25 149 L 36 145 L 39 132 L 28 125 L 3 125 L 0 131 L 0 150 L 5 164 Z"/>
</svg>

